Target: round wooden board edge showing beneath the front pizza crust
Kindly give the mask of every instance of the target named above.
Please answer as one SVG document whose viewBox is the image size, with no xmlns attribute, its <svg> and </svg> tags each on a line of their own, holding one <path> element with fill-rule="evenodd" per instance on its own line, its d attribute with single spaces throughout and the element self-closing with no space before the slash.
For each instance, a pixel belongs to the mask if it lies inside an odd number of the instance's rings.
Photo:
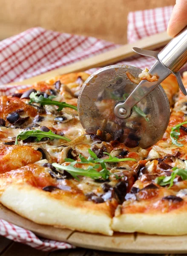
<svg viewBox="0 0 187 256">
<path fill-rule="evenodd" d="M 139 233 L 114 233 L 113 236 L 83 233 L 36 224 L 0 204 L 0 218 L 31 230 L 37 236 L 65 241 L 78 247 L 123 253 L 186 253 L 187 235 L 157 236 Z"/>
</svg>

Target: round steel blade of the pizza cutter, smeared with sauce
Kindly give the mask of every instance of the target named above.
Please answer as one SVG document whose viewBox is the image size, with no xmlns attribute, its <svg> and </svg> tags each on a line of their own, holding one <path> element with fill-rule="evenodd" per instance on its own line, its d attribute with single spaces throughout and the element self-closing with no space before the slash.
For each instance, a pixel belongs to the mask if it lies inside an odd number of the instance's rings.
<svg viewBox="0 0 187 256">
<path fill-rule="evenodd" d="M 118 118 L 114 108 L 137 87 L 127 73 L 138 77 L 141 70 L 127 65 L 104 67 L 83 84 L 78 98 L 81 124 L 87 133 L 102 131 L 105 140 L 120 140 L 129 147 L 148 148 L 158 141 L 170 119 L 170 105 L 160 85 L 132 108 L 126 119 Z"/>
</svg>

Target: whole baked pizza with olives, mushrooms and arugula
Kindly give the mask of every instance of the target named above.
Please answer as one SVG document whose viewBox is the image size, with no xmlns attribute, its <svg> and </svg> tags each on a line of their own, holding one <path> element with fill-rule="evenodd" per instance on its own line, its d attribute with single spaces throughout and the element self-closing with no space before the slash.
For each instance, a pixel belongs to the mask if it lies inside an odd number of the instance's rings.
<svg viewBox="0 0 187 256">
<path fill-rule="evenodd" d="M 0 203 L 71 230 L 187 234 L 187 97 L 175 76 L 161 84 L 170 123 L 147 149 L 129 131 L 128 143 L 121 131 L 86 134 L 77 99 L 88 77 L 70 73 L 0 97 Z"/>
</svg>

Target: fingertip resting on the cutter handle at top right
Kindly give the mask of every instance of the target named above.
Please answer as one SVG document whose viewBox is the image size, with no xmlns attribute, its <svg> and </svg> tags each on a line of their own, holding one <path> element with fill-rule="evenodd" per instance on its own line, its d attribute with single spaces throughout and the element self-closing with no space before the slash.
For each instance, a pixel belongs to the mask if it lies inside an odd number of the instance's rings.
<svg viewBox="0 0 187 256">
<path fill-rule="evenodd" d="M 167 27 L 167 33 L 171 37 L 174 37 L 184 29 L 185 26 L 187 26 L 187 0 L 176 0 Z"/>
</svg>

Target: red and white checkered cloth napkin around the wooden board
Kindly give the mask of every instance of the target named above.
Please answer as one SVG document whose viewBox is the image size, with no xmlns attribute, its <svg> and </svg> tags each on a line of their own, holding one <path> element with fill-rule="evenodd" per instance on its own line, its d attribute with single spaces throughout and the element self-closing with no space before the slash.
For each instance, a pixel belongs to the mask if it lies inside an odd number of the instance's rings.
<svg viewBox="0 0 187 256">
<path fill-rule="evenodd" d="M 173 6 L 130 12 L 128 15 L 129 42 L 163 32 L 167 29 Z M 119 45 L 97 38 L 60 34 L 42 28 L 29 29 L 0 42 L 0 84 L 39 75 L 46 71 L 80 61 Z M 138 47 L 138 45 L 137 45 Z M 154 63 L 150 57 L 131 57 L 121 62 L 144 69 Z M 93 72 L 95 69 L 89 70 Z M 19 86 L 19 82 L 17 83 Z M 15 86 L 0 86 L 0 95 L 14 92 Z M 70 244 L 39 239 L 29 230 L 0 220 L 0 235 L 28 244 L 40 250 L 72 248 Z"/>
</svg>

